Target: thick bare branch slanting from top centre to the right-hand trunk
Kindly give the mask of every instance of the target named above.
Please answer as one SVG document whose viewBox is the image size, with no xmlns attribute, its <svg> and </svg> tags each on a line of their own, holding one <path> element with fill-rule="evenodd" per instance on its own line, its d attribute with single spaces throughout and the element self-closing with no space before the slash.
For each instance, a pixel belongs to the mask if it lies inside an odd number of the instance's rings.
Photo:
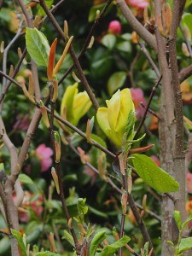
<svg viewBox="0 0 192 256">
<path fill-rule="evenodd" d="M 136 17 L 131 13 L 128 5 L 125 3 L 125 0 L 116 0 L 116 3 L 125 19 L 130 24 L 131 28 L 137 32 L 139 37 L 150 45 L 153 49 L 157 51 L 157 44 L 154 36 L 148 32 L 148 30 L 136 19 Z"/>
</svg>

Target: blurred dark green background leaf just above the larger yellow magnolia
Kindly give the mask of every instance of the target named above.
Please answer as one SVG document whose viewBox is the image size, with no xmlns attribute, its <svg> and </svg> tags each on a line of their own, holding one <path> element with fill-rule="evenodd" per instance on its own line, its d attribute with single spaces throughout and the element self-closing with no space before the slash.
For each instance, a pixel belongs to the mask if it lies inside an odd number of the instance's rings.
<svg viewBox="0 0 192 256">
<path fill-rule="evenodd" d="M 113 93 L 125 84 L 126 75 L 125 72 L 116 72 L 110 76 L 108 79 L 108 93 L 110 96 L 113 96 Z"/>
</svg>

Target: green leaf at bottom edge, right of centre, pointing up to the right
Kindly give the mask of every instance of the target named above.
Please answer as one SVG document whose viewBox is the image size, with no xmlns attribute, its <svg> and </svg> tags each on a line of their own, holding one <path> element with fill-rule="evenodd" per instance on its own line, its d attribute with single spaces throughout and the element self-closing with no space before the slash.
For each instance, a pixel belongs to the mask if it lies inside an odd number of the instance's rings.
<svg viewBox="0 0 192 256">
<path fill-rule="evenodd" d="M 130 237 L 123 236 L 119 241 L 115 241 L 113 244 L 108 245 L 102 250 L 102 253 L 99 253 L 98 256 L 110 256 L 113 255 L 120 247 L 124 247 L 128 241 L 130 241 Z"/>
</svg>

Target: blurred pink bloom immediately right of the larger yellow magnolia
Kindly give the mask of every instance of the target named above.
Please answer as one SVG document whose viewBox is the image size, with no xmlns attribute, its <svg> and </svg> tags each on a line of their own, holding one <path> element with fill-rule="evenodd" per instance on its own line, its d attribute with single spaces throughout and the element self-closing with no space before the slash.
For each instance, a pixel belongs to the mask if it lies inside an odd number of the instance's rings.
<svg viewBox="0 0 192 256">
<path fill-rule="evenodd" d="M 140 88 L 131 88 L 130 90 L 132 101 L 136 108 L 136 118 L 139 119 L 140 117 L 143 117 L 145 112 L 145 109 L 140 105 L 140 102 L 143 102 L 144 105 L 147 105 L 143 96 L 143 90 Z"/>
</svg>

